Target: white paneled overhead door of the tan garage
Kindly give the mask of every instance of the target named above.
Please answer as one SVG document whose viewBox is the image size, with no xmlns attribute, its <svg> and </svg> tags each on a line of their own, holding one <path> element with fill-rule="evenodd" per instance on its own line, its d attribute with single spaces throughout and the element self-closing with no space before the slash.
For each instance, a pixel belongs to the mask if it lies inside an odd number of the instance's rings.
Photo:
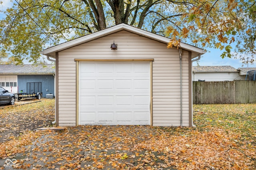
<svg viewBox="0 0 256 170">
<path fill-rule="evenodd" d="M 80 62 L 80 125 L 150 125 L 149 62 Z"/>
</svg>

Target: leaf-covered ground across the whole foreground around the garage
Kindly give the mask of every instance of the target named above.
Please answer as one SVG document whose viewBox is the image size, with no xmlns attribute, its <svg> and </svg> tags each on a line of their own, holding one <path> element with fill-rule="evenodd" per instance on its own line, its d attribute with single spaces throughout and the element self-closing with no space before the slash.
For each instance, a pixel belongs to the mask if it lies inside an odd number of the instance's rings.
<svg viewBox="0 0 256 170">
<path fill-rule="evenodd" d="M 54 100 L 2 109 L 0 116 L 8 113 L 9 120 L 18 112 L 35 122 L 48 116 L 53 121 Z M 21 169 L 255 170 L 255 120 L 256 104 L 214 104 L 194 105 L 196 127 L 78 126 L 55 132 L 24 126 L 0 142 L 0 169 L 11 165 L 5 163 L 9 158 Z M 23 125 L 16 124 L 20 132 Z"/>
</svg>

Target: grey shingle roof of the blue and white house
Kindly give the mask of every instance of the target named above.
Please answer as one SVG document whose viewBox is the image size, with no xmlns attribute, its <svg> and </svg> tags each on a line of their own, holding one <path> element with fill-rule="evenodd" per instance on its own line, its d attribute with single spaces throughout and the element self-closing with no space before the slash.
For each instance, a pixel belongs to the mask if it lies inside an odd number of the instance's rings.
<svg viewBox="0 0 256 170">
<path fill-rule="evenodd" d="M 17 75 L 17 74 L 55 74 L 54 64 L 45 65 L 0 65 L 0 75 Z"/>
</svg>

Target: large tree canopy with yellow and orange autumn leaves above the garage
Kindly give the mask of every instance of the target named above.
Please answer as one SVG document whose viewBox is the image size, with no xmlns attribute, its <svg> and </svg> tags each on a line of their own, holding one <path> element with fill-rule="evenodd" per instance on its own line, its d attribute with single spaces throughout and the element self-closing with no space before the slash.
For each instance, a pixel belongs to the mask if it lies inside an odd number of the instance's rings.
<svg viewBox="0 0 256 170">
<path fill-rule="evenodd" d="M 213 47 L 251 63 L 256 54 L 255 0 L 15 0 L 0 12 L 0 53 L 14 64 L 40 63 L 43 49 L 120 23 L 169 37 L 168 47 Z"/>
</svg>

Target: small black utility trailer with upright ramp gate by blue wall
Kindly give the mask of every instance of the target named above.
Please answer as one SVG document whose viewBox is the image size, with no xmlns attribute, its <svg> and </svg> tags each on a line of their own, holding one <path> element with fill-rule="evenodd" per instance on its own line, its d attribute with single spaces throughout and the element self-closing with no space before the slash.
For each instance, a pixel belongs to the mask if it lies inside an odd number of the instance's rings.
<svg viewBox="0 0 256 170">
<path fill-rule="evenodd" d="M 20 93 L 14 94 L 17 101 L 21 99 L 41 99 L 42 96 L 42 82 L 27 82 L 27 92 L 20 90 Z"/>
</svg>

